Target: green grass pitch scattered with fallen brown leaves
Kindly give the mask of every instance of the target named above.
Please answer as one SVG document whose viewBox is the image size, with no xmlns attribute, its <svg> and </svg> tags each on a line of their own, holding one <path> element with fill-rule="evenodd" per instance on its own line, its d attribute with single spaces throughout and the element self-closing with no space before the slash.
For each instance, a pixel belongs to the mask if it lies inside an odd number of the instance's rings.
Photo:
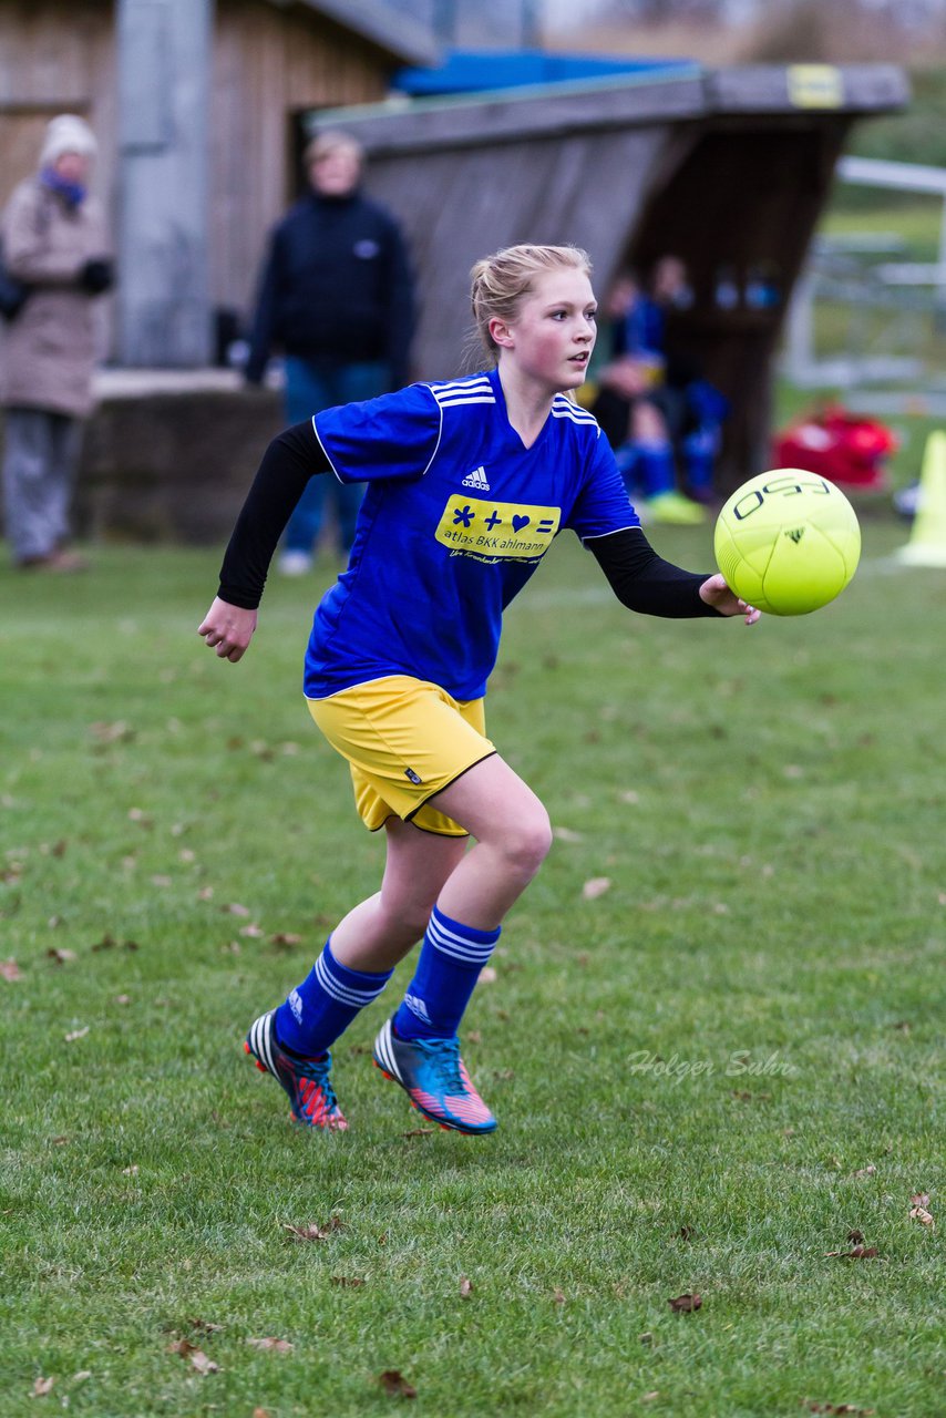
<svg viewBox="0 0 946 1418">
<path fill-rule="evenodd" d="M 489 727 L 559 837 L 467 1018 L 485 1140 L 370 1066 L 383 1001 L 346 1134 L 243 1055 L 382 862 L 315 580 L 231 666 L 217 552 L 0 571 L 3 1418 L 946 1414 L 946 573 L 864 532 L 797 621 L 631 617 L 573 539 L 509 613 Z"/>
</svg>

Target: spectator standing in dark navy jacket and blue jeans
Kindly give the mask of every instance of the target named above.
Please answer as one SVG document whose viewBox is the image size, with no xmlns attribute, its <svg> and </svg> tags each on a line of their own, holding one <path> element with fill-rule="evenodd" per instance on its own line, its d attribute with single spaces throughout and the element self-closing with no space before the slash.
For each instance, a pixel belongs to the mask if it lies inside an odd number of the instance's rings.
<svg viewBox="0 0 946 1418">
<path fill-rule="evenodd" d="M 272 347 L 285 356 L 285 417 L 374 398 L 407 383 L 414 291 L 391 214 L 362 196 L 363 152 L 342 132 L 306 147 L 312 186 L 278 224 L 262 268 L 247 380 L 258 384 Z M 333 496 L 343 549 L 355 536 L 359 485 L 312 478 L 285 530 L 279 570 L 308 571 Z"/>
</svg>

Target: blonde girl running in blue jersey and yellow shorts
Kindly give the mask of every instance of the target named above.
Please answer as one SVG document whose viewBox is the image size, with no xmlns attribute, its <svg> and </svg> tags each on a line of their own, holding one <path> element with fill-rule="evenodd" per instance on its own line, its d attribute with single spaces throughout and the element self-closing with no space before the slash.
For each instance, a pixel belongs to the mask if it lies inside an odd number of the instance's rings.
<svg viewBox="0 0 946 1418">
<path fill-rule="evenodd" d="M 759 615 L 722 576 L 657 556 L 596 420 L 569 397 L 596 333 L 584 252 L 519 245 L 477 262 L 472 309 L 486 373 L 328 408 L 269 444 L 199 628 L 218 657 L 238 661 L 309 476 L 367 482 L 347 570 L 315 613 L 305 695 L 350 764 L 362 820 L 386 831 L 384 876 L 245 1042 L 309 1127 L 347 1126 L 329 1046 L 421 937 L 374 1062 L 441 1126 L 496 1126 L 457 1029 L 552 832 L 539 798 L 486 737 L 484 695 L 502 611 L 552 539 L 572 527 L 631 610 L 743 614 L 746 624 Z"/>
</svg>

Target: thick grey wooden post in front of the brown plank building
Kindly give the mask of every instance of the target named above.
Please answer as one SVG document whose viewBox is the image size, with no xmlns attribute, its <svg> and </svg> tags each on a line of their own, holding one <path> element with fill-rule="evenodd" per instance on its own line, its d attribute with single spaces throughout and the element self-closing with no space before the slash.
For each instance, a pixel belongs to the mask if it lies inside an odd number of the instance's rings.
<svg viewBox="0 0 946 1418">
<path fill-rule="evenodd" d="M 210 363 L 211 27 L 213 0 L 118 0 L 118 302 L 126 366 Z"/>
</svg>

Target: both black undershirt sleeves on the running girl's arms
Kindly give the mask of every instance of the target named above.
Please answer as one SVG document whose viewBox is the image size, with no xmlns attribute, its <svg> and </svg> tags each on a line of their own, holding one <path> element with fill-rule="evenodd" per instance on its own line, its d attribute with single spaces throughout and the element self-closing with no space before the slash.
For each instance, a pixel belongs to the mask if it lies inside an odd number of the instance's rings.
<svg viewBox="0 0 946 1418">
<path fill-rule="evenodd" d="M 224 554 L 218 590 L 223 601 L 257 608 L 272 553 L 306 482 L 330 471 L 311 423 L 294 424 L 272 440 Z M 640 527 L 591 537 L 587 546 L 628 610 L 674 620 L 718 614 L 699 598 L 699 587 L 711 573 L 684 571 L 665 562 Z"/>
</svg>

